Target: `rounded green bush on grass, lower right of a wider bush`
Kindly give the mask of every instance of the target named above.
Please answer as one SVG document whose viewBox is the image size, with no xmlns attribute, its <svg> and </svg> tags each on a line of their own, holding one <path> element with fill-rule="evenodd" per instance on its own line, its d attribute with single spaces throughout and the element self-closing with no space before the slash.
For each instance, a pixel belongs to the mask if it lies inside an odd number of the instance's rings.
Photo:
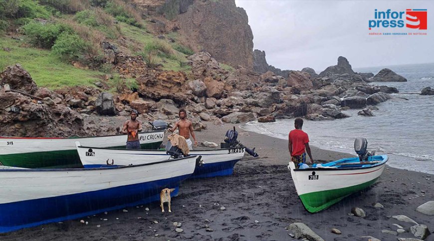
<svg viewBox="0 0 434 241">
<path fill-rule="evenodd" d="M 86 48 L 87 43 L 78 34 L 65 31 L 58 36 L 51 49 L 62 59 L 72 61 L 77 60 Z"/>
</svg>

